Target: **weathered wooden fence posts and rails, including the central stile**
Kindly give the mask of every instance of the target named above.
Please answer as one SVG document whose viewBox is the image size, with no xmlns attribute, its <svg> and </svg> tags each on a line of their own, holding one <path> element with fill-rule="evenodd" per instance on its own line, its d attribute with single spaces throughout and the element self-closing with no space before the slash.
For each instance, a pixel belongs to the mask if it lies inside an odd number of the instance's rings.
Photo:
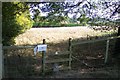
<svg viewBox="0 0 120 80">
<path fill-rule="evenodd" d="M 68 51 L 66 52 L 62 52 L 62 53 L 58 53 L 58 54 L 48 54 L 48 56 L 58 56 L 58 55 L 69 55 L 69 58 L 64 58 L 64 59 L 54 59 L 54 60 L 46 60 L 45 56 L 46 53 L 42 52 L 42 73 L 44 75 L 45 73 L 45 64 L 48 63 L 58 63 L 58 62 L 66 62 L 69 61 L 69 69 L 71 69 L 71 61 L 72 61 L 72 50 L 71 47 L 75 46 L 75 45 L 80 45 L 80 44 L 86 44 L 86 43 L 94 43 L 94 42 L 98 42 L 98 41 L 107 41 L 106 42 L 106 53 L 105 53 L 105 63 L 107 63 L 108 61 L 108 50 L 109 50 L 109 41 L 111 39 L 117 39 L 120 38 L 120 36 L 116 36 L 116 37 L 109 37 L 109 38 L 105 38 L 105 39 L 99 39 L 99 40 L 89 40 L 89 41 L 83 41 L 83 42 L 77 42 L 77 43 L 73 43 L 72 39 L 69 38 L 69 46 L 68 46 Z M 43 39 L 43 44 L 45 44 L 45 39 Z M 28 48 L 34 48 L 36 45 L 31 45 L 31 46 L 3 46 L 3 49 L 28 49 Z"/>
</svg>

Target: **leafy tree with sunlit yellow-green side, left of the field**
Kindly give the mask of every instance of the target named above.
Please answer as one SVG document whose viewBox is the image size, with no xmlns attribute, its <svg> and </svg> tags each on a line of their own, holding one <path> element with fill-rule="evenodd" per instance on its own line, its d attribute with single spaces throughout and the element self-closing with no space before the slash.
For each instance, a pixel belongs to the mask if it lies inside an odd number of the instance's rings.
<svg viewBox="0 0 120 80">
<path fill-rule="evenodd" d="M 29 7 L 24 2 L 3 2 L 2 4 L 2 42 L 15 44 L 14 38 L 32 27 Z"/>
</svg>

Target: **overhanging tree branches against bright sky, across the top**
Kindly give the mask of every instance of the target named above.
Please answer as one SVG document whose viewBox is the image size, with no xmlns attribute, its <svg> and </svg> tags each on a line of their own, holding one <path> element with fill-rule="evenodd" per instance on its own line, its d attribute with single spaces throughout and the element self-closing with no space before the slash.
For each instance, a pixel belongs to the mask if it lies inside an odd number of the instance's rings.
<svg viewBox="0 0 120 80">
<path fill-rule="evenodd" d="M 34 8 L 36 7 L 36 8 Z M 92 19 L 104 18 L 107 21 L 111 21 L 119 12 L 119 1 L 106 1 L 106 0 L 81 0 L 72 2 L 37 2 L 31 3 L 30 11 L 33 13 L 47 13 L 47 18 L 51 16 L 68 16 L 68 14 L 74 14 L 73 18 L 77 14 L 80 14 L 79 18 L 85 15 Z M 35 18 L 36 15 L 33 15 Z M 99 24 L 99 23 L 98 23 Z"/>
</svg>

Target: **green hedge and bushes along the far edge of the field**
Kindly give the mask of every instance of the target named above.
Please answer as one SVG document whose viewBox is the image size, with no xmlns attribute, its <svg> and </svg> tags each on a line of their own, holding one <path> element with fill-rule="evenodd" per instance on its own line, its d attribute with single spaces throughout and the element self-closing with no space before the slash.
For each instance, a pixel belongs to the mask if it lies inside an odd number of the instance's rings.
<svg viewBox="0 0 120 80">
<path fill-rule="evenodd" d="M 49 18 L 40 17 L 34 19 L 33 27 L 72 27 L 87 26 L 90 18 L 83 15 L 81 18 L 71 19 L 63 16 L 51 16 Z"/>
</svg>

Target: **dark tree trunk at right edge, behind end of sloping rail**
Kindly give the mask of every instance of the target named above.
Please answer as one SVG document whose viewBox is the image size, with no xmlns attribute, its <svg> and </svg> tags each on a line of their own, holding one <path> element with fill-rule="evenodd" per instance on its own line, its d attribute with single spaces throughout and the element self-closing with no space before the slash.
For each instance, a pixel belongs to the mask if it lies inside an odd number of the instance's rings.
<svg viewBox="0 0 120 80">
<path fill-rule="evenodd" d="M 118 27 L 117 36 L 120 36 L 120 26 Z M 116 39 L 115 51 L 114 51 L 113 56 L 114 57 L 119 57 L 120 56 L 120 38 Z"/>
</svg>

